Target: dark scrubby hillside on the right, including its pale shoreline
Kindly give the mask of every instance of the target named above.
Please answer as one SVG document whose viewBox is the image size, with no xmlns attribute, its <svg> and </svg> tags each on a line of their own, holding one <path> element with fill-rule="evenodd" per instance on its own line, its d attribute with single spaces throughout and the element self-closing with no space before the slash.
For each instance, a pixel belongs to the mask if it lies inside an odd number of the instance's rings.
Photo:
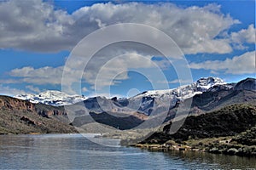
<svg viewBox="0 0 256 170">
<path fill-rule="evenodd" d="M 230 105 L 201 116 L 189 116 L 173 134 L 171 126 L 172 122 L 141 144 L 149 148 L 154 145 L 159 150 L 167 145 L 166 149 L 256 156 L 256 105 Z"/>
</svg>

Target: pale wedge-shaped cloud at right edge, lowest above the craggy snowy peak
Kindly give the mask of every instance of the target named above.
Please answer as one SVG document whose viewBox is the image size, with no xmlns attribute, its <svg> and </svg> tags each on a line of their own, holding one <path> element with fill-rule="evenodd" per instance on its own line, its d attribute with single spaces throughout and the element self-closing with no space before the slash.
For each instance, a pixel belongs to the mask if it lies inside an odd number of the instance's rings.
<svg viewBox="0 0 256 170">
<path fill-rule="evenodd" d="M 214 73 L 223 72 L 225 74 L 253 74 L 256 73 L 255 51 L 235 56 L 232 59 L 207 60 L 202 63 L 191 63 L 192 69 L 204 69 Z"/>
</svg>

